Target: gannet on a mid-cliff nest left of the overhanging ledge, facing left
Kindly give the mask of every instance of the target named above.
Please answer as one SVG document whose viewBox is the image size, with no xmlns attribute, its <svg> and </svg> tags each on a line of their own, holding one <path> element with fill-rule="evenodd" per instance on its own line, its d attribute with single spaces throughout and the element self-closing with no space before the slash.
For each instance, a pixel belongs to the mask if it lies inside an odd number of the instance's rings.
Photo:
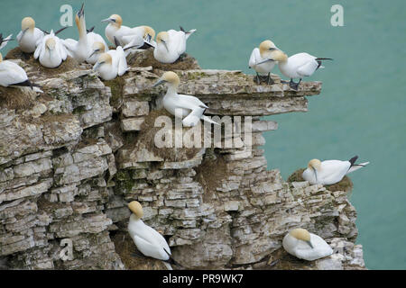
<svg viewBox="0 0 406 288">
<path fill-rule="evenodd" d="M 180 78 L 176 73 L 172 71 L 163 73 L 153 86 L 155 87 L 163 83 L 168 84 L 168 90 L 162 100 L 163 107 L 172 115 L 185 117 L 182 120 L 183 126 L 193 127 L 200 120 L 218 125 L 216 121 L 212 121 L 208 116 L 203 115 L 203 112 L 208 109 L 205 103 L 198 100 L 195 96 L 178 94 Z"/>
</svg>

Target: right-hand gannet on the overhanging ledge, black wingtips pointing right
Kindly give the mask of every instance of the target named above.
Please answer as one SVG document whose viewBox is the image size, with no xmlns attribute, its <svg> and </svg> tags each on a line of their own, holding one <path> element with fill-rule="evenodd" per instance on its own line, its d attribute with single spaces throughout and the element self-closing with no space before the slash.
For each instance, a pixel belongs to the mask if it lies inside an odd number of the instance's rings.
<svg viewBox="0 0 406 288">
<path fill-rule="evenodd" d="M 322 60 L 332 60 L 332 58 L 317 58 L 308 53 L 298 53 L 288 58 L 285 53 L 277 50 L 273 53 L 272 60 L 278 61 L 281 73 L 291 78 L 289 82 L 291 88 L 298 90 L 303 77 L 312 76 L 318 68 L 324 68 L 321 66 Z M 299 78 L 299 82 L 293 82 L 294 78 Z M 281 82 L 287 83 L 286 81 Z"/>
</svg>

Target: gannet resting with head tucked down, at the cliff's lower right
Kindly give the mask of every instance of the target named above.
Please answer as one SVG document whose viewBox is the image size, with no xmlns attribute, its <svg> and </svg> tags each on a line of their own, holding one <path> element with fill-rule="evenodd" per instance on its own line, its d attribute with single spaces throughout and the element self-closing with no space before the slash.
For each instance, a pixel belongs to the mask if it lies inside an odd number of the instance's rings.
<svg viewBox="0 0 406 288">
<path fill-rule="evenodd" d="M 313 261 L 333 254 L 327 242 L 306 229 L 292 229 L 282 241 L 283 248 L 294 257 Z"/>
</svg>

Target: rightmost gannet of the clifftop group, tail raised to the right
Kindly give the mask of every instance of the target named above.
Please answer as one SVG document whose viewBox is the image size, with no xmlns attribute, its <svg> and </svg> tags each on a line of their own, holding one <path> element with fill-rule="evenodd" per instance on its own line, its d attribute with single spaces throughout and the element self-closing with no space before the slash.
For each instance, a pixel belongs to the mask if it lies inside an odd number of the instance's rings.
<svg viewBox="0 0 406 288">
<path fill-rule="evenodd" d="M 161 63 L 173 63 L 180 55 L 186 51 L 186 40 L 195 32 L 196 29 L 180 31 L 171 29 L 170 31 L 161 31 L 156 36 L 156 47 L 153 50 L 153 57 Z"/>
</svg>

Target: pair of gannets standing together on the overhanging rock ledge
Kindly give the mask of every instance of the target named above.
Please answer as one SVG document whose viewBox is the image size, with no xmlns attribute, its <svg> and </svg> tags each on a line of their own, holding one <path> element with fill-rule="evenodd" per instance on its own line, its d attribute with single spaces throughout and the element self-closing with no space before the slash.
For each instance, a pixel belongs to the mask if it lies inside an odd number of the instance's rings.
<svg viewBox="0 0 406 288">
<path fill-rule="evenodd" d="M 321 66 L 322 60 L 332 60 L 332 58 L 317 58 L 308 53 L 298 53 L 288 58 L 288 55 L 277 49 L 271 40 L 265 40 L 261 44 L 263 47 L 260 45 L 259 49 L 253 50 L 249 66 L 254 67 L 257 74 L 263 75 L 268 73 L 268 82 L 270 83 L 269 73 L 275 66 L 275 62 L 278 62 L 281 73 L 291 78 L 289 85 L 295 90 L 298 90 L 303 77 L 312 76 L 318 68 L 323 68 Z M 261 60 L 261 58 L 264 59 Z M 257 59 L 260 60 L 257 61 Z M 264 64 L 267 64 L 267 66 Z M 293 81 L 295 78 L 299 78 L 298 83 Z M 258 81 L 257 77 L 257 83 Z M 281 82 L 287 83 L 286 81 Z"/>
</svg>

